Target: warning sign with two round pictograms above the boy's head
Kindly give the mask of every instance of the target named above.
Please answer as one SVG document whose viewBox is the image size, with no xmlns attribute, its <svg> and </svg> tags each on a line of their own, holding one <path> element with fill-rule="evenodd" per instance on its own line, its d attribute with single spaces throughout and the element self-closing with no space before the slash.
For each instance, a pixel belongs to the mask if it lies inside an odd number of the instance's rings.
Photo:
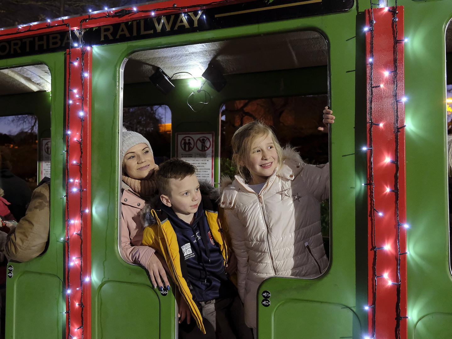
<svg viewBox="0 0 452 339">
<path fill-rule="evenodd" d="M 176 157 L 196 167 L 198 180 L 213 186 L 213 132 L 176 133 Z"/>
</svg>

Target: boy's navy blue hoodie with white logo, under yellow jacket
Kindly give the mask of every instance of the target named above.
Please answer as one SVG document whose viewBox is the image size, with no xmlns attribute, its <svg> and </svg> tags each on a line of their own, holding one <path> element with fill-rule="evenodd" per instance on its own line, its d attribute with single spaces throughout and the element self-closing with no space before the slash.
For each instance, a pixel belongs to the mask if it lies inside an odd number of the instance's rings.
<svg viewBox="0 0 452 339">
<path fill-rule="evenodd" d="M 220 248 L 212 237 L 207 217 L 199 203 L 192 225 L 181 220 L 171 207 L 161 204 L 168 215 L 179 244 L 181 265 L 187 267 L 188 286 L 195 301 L 209 301 L 234 294 L 234 285 L 228 279 Z"/>
</svg>

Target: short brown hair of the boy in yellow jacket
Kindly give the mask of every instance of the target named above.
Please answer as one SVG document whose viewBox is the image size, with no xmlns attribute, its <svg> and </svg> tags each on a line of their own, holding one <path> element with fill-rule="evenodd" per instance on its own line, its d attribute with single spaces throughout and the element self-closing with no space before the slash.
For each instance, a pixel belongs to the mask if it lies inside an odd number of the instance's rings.
<svg viewBox="0 0 452 339">
<path fill-rule="evenodd" d="M 172 158 L 161 163 L 155 174 L 155 181 L 160 194 L 170 196 L 170 179 L 182 180 L 196 172 L 196 167 L 187 161 Z"/>
</svg>

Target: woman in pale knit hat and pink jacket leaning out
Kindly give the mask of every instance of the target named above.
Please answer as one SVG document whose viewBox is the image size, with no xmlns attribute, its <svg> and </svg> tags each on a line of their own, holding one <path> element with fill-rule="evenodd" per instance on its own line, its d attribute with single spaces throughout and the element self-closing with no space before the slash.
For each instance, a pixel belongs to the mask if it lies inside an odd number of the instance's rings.
<svg viewBox="0 0 452 339">
<path fill-rule="evenodd" d="M 151 145 L 140 133 L 122 129 L 122 197 L 121 247 L 122 254 L 132 264 L 146 268 L 154 287 L 169 290 L 166 263 L 149 246 L 141 246 L 143 227 L 140 220 L 145 201 L 156 194 L 155 170 Z"/>
</svg>

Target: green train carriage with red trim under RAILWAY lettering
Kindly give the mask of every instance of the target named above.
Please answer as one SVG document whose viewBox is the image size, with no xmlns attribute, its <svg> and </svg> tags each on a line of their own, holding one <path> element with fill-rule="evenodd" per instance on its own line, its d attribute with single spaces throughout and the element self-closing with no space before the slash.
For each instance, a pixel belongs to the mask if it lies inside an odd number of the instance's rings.
<svg viewBox="0 0 452 339">
<path fill-rule="evenodd" d="M 369 62 L 375 62 L 368 60 L 370 33 L 375 31 L 372 37 L 377 43 L 380 24 L 376 20 L 369 25 L 368 18 L 372 11 L 383 15 L 389 6 L 389 25 L 394 27 L 395 5 L 403 14 L 399 29 L 409 37 L 403 58 L 397 61 L 404 63 L 400 84 L 408 98 L 403 117 L 405 161 L 400 167 L 406 171 L 402 179 L 406 181 L 406 222 L 411 226 L 406 233 L 410 252 L 406 279 L 400 284 L 405 289 L 401 309 L 406 312 L 399 320 L 396 311 L 382 315 L 380 304 L 372 305 L 369 258 L 374 251 L 368 246 L 372 204 L 363 185 L 370 162 L 368 152 L 361 150 L 369 141 L 366 118 L 374 87 L 368 77 Z M 173 292 L 162 295 L 153 289 L 146 272 L 128 264 L 120 249 L 118 159 L 123 108 L 167 106 L 171 132 L 164 131 L 161 142 L 170 149 L 152 145 L 162 156 L 180 156 L 184 136 L 213 136 L 212 164 L 204 165 L 212 184 L 217 184 L 224 171 L 221 150 L 227 147 L 221 139 L 231 134 L 231 129 L 221 130 L 220 111 L 225 103 L 312 95 L 328 98 L 327 105 L 337 117 L 329 138 L 330 267 L 316 279 L 265 280 L 256 305 L 258 337 L 397 337 L 394 329 L 399 324 L 403 338 L 448 338 L 452 285 L 445 75 L 451 69 L 450 62 L 446 67 L 446 56 L 450 61 L 452 33 L 447 25 L 452 8 L 447 0 L 370 6 L 362 1 L 326 0 L 181 1 L 175 6 L 157 1 L 0 31 L 0 70 L 15 72 L 13 80 L 10 73 L 2 74 L 1 116 L 34 114 L 38 145 L 51 138 L 48 247 L 29 262 L 8 264 L 6 338 L 81 338 L 82 333 L 84 338 L 108 339 L 177 336 Z M 372 57 L 377 60 L 375 52 Z M 36 65 L 47 66 L 50 88 L 42 89 L 34 78 L 24 80 L 26 73 L 20 70 Z M 217 79 L 207 79 L 198 92 L 189 82 L 193 78 L 204 82 L 208 76 L 201 75 L 209 65 L 222 70 L 226 84 L 218 91 Z M 170 79 L 174 89 L 165 94 L 148 79 L 157 67 L 168 75 L 190 73 Z M 18 78 L 17 73 L 22 76 Z M 447 76 L 447 84 L 451 79 Z M 81 110 L 75 98 L 83 103 Z M 69 131 L 72 126 L 76 130 Z M 73 160 L 68 150 L 83 161 Z M 48 163 L 39 162 L 38 173 L 44 173 L 43 166 L 49 169 Z M 80 187 L 84 186 L 71 196 L 68 183 L 79 169 Z M 85 228 L 80 231 L 83 236 L 74 231 L 74 240 L 71 218 L 78 216 L 75 205 L 80 200 L 84 204 L 80 222 Z M 84 238 L 83 245 L 79 237 Z M 81 266 L 69 268 L 68 244 L 84 253 Z M 73 299 L 80 293 L 75 291 L 78 285 L 68 286 L 71 269 L 80 277 L 83 273 L 80 287 L 85 287 L 85 293 L 83 323 L 76 323 L 82 312 L 75 305 L 70 325 L 68 289 Z M 384 301 L 391 310 L 397 302 L 394 291 Z M 379 317 L 394 320 L 385 325 Z"/>
</svg>

